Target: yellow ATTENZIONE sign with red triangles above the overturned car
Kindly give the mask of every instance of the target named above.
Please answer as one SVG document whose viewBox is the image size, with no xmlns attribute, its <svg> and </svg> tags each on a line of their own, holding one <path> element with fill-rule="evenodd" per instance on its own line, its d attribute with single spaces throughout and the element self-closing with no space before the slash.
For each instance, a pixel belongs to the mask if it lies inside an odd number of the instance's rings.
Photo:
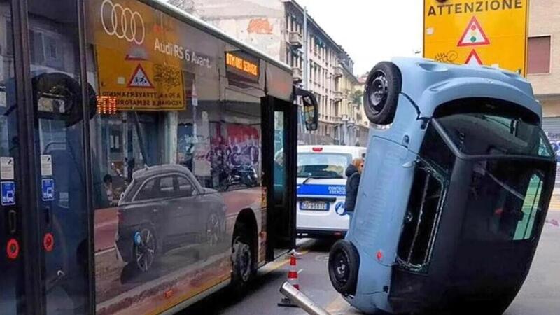
<svg viewBox="0 0 560 315">
<path fill-rule="evenodd" d="M 528 0 L 424 0 L 423 55 L 525 76 Z"/>
</svg>

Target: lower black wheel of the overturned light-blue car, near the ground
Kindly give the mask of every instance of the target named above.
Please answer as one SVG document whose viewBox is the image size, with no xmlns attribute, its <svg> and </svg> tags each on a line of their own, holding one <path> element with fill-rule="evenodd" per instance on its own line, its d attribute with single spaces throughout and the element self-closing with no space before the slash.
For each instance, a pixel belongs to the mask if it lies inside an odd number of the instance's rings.
<svg viewBox="0 0 560 315">
<path fill-rule="evenodd" d="M 328 276 L 332 286 L 343 295 L 355 295 L 358 285 L 360 255 L 346 239 L 338 240 L 328 255 Z"/>
</svg>

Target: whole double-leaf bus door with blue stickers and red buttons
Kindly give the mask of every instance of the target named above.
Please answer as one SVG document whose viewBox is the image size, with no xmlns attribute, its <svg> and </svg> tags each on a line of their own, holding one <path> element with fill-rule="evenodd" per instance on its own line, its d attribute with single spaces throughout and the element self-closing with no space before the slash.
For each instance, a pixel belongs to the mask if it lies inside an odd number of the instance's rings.
<svg viewBox="0 0 560 315">
<path fill-rule="evenodd" d="M 1 314 L 92 312 L 78 21 L 0 0 Z"/>
</svg>

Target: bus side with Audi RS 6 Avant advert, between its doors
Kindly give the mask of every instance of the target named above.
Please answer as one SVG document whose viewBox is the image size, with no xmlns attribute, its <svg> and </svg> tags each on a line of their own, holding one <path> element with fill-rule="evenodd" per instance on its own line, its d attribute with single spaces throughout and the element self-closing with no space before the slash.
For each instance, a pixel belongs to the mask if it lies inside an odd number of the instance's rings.
<svg viewBox="0 0 560 315">
<path fill-rule="evenodd" d="M 117 5 L 137 37 L 110 29 Z M 228 283 L 241 217 L 265 259 L 264 61 L 153 6 L 86 1 L 97 314 L 157 314 Z"/>
</svg>

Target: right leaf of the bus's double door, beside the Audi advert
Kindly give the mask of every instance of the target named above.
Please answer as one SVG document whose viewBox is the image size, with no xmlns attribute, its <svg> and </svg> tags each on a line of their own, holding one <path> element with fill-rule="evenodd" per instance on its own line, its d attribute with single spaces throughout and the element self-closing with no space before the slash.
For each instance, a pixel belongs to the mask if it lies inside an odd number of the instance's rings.
<svg viewBox="0 0 560 315">
<path fill-rule="evenodd" d="M 34 164 L 43 309 L 46 314 L 91 309 L 89 235 L 91 191 L 85 162 L 78 1 L 27 0 L 27 37 L 34 110 Z M 92 113 L 88 113 L 92 116 Z M 89 118 L 89 117 L 88 117 Z"/>
</svg>

